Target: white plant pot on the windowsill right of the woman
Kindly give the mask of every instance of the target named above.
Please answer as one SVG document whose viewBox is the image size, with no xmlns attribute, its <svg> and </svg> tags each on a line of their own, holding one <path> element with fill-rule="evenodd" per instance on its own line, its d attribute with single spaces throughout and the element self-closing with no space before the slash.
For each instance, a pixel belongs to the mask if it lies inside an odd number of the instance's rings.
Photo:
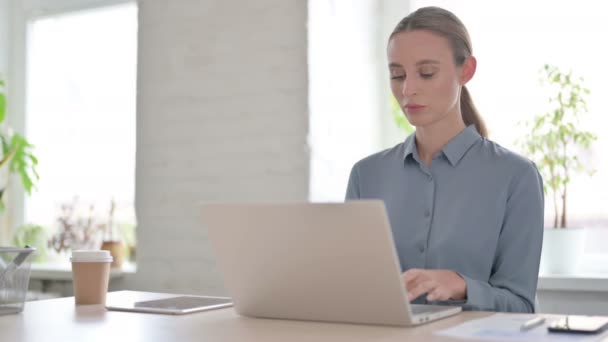
<svg viewBox="0 0 608 342">
<path fill-rule="evenodd" d="M 585 248 L 585 229 L 545 229 L 541 274 L 574 274 Z"/>
</svg>

